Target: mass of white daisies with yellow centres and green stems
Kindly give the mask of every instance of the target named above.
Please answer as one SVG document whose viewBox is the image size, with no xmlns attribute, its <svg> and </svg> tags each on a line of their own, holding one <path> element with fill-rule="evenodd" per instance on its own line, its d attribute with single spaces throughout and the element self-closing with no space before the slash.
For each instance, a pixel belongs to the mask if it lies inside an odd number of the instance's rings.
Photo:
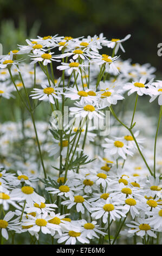
<svg viewBox="0 0 162 256">
<path fill-rule="evenodd" d="M 21 113 L 0 125 L 1 244 L 24 233 L 31 244 L 161 242 L 162 81 L 120 58 L 130 36 L 37 36 L 0 57 L 0 100 Z M 147 96 L 157 128 L 136 112 Z"/>
</svg>

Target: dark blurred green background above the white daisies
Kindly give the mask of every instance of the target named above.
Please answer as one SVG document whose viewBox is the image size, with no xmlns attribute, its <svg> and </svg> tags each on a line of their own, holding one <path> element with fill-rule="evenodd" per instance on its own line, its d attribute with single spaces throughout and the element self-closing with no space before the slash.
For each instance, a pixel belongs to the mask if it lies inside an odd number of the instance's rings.
<svg viewBox="0 0 162 256">
<path fill-rule="evenodd" d="M 126 53 L 119 51 L 121 58 L 151 63 L 162 80 L 162 57 L 157 55 L 157 46 L 162 42 L 161 14 L 161 0 L 0 0 L 0 42 L 7 54 L 37 35 L 77 37 L 103 32 L 111 40 L 130 33 L 131 38 L 124 42 Z M 148 97 L 139 101 L 139 109 L 158 115 L 157 102 L 149 107 Z M 132 99 L 129 108 L 133 105 Z M 2 115 L 3 121 L 8 119 L 4 112 Z"/>
</svg>

